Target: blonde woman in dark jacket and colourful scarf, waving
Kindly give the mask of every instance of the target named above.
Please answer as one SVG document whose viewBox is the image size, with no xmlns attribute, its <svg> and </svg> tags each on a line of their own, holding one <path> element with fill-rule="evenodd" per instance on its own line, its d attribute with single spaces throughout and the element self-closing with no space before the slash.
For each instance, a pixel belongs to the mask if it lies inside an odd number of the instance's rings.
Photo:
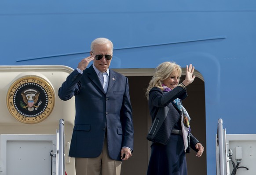
<svg viewBox="0 0 256 175">
<path fill-rule="evenodd" d="M 181 102 L 187 97 L 187 86 L 194 81 L 194 66 L 187 66 L 183 82 L 181 73 L 176 63 L 161 63 L 147 88 L 152 122 L 158 111 L 167 109 L 163 124 L 155 131 L 158 141 L 151 145 L 147 175 L 187 175 L 185 153 L 191 147 L 197 151 L 197 157 L 203 154 L 204 147 L 190 132 L 190 117 Z"/>
</svg>

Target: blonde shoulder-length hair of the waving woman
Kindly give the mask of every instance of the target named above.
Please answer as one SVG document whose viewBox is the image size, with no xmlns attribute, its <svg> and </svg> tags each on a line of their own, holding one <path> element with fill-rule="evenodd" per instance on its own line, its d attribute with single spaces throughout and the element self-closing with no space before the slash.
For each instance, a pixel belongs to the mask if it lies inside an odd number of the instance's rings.
<svg viewBox="0 0 256 175">
<path fill-rule="evenodd" d="M 174 62 L 161 63 L 159 66 L 157 66 L 156 72 L 149 82 L 149 86 L 146 89 L 146 98 L 148 99 L 148 93 L 153 87 L 163 90 L 162 84 L 164 80 L 175 75 L 181 77 L 181 73 L 182 70 L 178 64 Z"/>
</svg>

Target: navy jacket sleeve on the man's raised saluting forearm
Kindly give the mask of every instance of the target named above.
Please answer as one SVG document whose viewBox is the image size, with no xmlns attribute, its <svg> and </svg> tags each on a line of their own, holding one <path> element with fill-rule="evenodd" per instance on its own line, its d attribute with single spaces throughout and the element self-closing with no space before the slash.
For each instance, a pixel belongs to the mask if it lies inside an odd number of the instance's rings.
<svg viewBox="0 0 256 175">
<path fill-rule="evenodd" d="M 72 98 L 74 95 L 77 95 L 80 92 L 80 78 L 83 74 L 79 73 L 77 70 L 74 70 L 66 78 L 66 81 L 62 83 L 62 86 L 59 88 L 59 98 L 66 101 Z"/>
</svg>

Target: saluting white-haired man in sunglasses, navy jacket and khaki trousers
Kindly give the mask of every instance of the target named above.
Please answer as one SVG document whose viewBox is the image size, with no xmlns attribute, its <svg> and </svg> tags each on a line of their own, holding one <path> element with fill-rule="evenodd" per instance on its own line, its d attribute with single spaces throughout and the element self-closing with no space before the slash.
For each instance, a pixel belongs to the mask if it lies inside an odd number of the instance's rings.
<svg viewBox="0 0 256 175">
<path fill-rule="evenodd" d="M 91 42 L 90 55 L 59 88 L 59 98 L 75 96 L 76 102 L 69 156 L 75 158 L 76 175 L 120 175 L 122 160 L 133 152 L 128 78 L 109 69 L 113 57 L 109 39 Z"/>
</svg>

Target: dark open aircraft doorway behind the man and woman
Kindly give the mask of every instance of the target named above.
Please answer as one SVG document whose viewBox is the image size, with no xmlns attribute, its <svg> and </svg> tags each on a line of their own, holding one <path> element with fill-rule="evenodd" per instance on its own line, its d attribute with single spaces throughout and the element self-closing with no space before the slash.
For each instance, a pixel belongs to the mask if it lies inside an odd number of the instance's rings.
<svg viewBox="0 0 256 175">
<path fill-rule="evenodd" d="M 146 175 L 150 159 L 150 141 L 146 140 L 151 126 L 151 117 L 145 91 L 154 73 L 154 69 L 115 70 L 129 80 L 134 123 L 134 152 L 128 161 L 123 161 L 121 175 Z M 206 175 L 206 129 L 205 129 L 205 85 L 200 76 L 187 88 L 188 97 L 183 105 L 191 117 L 191 130 L 195 137 L 204 144 L 205 151 L 201 158 L 195 151 L 186 154 L 189 175 Z M 184 79 L 184 78 L 183 78 Z"/>
</svg>

